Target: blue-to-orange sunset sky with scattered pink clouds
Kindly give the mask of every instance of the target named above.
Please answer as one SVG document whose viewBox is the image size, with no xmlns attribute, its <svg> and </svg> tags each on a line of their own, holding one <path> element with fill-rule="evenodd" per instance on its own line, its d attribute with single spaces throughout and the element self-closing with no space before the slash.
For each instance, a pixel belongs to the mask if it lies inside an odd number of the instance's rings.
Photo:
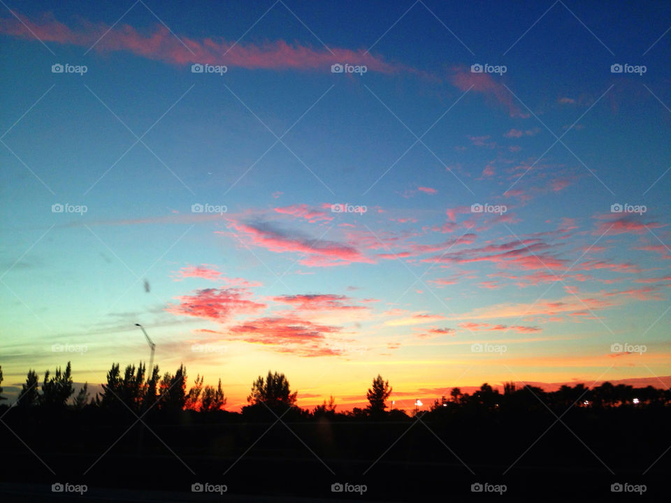
<svg viewBox="0 0 671 503">
<path fill-rule="evenodd" d="M 147 362 L 135 323 L 231 410 L 268 370 L 340 409 L 378 373 L 406 409 L 670 384 L 670 25 L 656 2 L 3 2 L 6 394 Z"/>
</svg>

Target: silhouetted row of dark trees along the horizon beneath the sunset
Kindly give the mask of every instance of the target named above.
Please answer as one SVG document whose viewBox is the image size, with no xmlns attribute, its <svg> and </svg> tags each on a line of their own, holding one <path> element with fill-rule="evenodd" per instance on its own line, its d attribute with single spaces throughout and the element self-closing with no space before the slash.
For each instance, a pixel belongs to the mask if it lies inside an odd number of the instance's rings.
<svg viewBox="0 0 671 503">
<path fill-rule="evenodd" d="M 226 396 L 222 390 L 222 380 L 217 386 L 203 386 L 203 377 L 199 374 L 187 389 L 187 370 L 184 365 L 175 373 L 165 372 L 162 376 L 158 365 L 147 376 L 143 363 L 127 365 L 121 372 L 120 364 L 114 363 L 107 373 L 107 382 L 102 384 L 103 392 L 89 395 L 88 384 L 85 383 L 75 394 L 72 380 L 71 363 L 65 370 L 57 367 L 54 374 L 45 371 L 40 386 L 38 374 L 29 370 L 26 381 L 15 402 L 20 409 L 100 409 L 107 411 L 123 411 L 130 409 L 136 414 L 147 411 L 178 413 L 195 411 L 203 414 L 224 411 Z M 6 400 L 2 396 L 2 367 L 0 366 L 0 402 Z M 284 374 L 270 372 L 266 377 L 259 376 L 253 383 L 248 405 L 243 407 L 243 414 L 254 411 L 286 411 L 292 409 L 294 416 L 349 416 L 354 418 L 405 416 L 405 411 L 388 405 L 392 388 L 389 381 L 378 375 L 366 392 L 368 407 L 355 407 L 352 411 L 336 413 L 333 396 L 311 411 L 296 406 L 298 393 L 292 392 L 289 381 Z M 407 402 L 406 402 L 407 403 Z M 537 411 L 546 408 L 566 409 L 567 407 L 613 408 L 613 407 L 664 407 L 671 404 L 671 390 L 658 389 L 654 386 L 634 388 L 633 386 L 605 382 L 600 386 L 588 388 L 584 384 L 561 386 L 557 391 L 547 392 L 536 386 L 518 387 L 514 383 L 506 383 L 503 393 L 493 389 L 489 384 L 482 384 L 472 394 L 461 393 L 460 388 L 452 388 L 449 397 L 442 396 L 430 406 L 431 416 L 440 416 L 454 411 Z M 419 404 L 410 402 L 411 414 L 419 412 Z"/>
</svg>

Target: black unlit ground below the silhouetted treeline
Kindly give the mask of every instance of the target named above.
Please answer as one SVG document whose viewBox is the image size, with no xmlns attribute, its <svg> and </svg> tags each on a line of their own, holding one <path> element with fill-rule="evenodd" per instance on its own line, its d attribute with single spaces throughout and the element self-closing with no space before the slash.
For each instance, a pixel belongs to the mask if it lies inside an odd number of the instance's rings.
<svg viewBox="0 0 671 503">
<path fill-rule="evenodd" d="M 2 502 L 660 500 L 671 473 L 670 407 L 253 421 L 185 412 L 146 425 L 14 412 L 0 424 Z"/>
</svg>

